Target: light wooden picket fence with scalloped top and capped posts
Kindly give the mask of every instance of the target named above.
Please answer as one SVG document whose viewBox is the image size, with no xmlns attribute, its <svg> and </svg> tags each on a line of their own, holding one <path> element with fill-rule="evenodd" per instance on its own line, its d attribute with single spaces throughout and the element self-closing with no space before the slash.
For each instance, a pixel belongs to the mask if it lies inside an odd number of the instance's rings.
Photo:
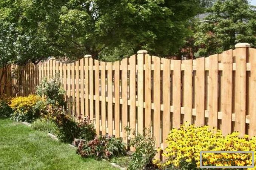
<svg viewBox="0 0 256 170">
<path fill-rule="evenodd" d="M 98 134 L 125 142 L 125 126 L 139 133 L 150 128 L 156 147 L 163 149 L 170 129 L 185 121 L 224 134 L 256 135 L 256 49 L 247 43 L 195 60 L 168 60 L 138 51 L 114 63 L 86 55 L 75 63 L 49 60 L 12 69 L 24 70 L 17 95 L 34 93 L 42 78 L 59 73 L 68 112 L 76 118 L 90 116 Z"/>
</svg>

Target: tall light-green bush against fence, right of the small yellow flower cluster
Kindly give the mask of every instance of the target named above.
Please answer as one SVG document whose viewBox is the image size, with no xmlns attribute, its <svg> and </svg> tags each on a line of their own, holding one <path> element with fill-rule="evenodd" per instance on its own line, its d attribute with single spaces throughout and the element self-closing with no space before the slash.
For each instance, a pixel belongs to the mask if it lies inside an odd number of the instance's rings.
<svg viewBox="0 0 256 170">
<path fill-rule="evenodd" d="M 44 78 L 37 86 L 36 93 L 39 96 L 44 96 L 48 104 L 65 105 L 65 90 L 62 87 L 59 74 L 56 74 L 49 81 Z"/>
</svg>

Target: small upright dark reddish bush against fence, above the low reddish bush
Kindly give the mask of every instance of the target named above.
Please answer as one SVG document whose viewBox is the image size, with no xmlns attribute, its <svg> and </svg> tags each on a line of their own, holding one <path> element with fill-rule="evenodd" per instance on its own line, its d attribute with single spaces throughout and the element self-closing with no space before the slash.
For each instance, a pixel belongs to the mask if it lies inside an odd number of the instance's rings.
<svg viewBox="0 0 256 170">
<path fill-rule="evenodd" d="M 97 135 L 96 130 L 94 128 L 94 124 L 89 119 L 89 116 L 86 116 L 80 123 L 78 124 L 79 127 L 79 135 L 77 138 L 84 139 L 86 141 L 93 140 Z"/>
</svg>

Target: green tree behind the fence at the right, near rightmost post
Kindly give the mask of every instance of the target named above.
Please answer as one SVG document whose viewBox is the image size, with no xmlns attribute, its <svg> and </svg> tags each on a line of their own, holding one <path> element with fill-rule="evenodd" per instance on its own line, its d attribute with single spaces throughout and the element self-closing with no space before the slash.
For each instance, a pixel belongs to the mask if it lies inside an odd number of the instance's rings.
<svg viewBox="0 0 256 170">
<path fill-rule="evenodd" d="M 256 47 L 256 11 L 247 0 L 217 0 L 194 34 L 196 57 L 221 53 L 236 43 Z"/>
</svg>

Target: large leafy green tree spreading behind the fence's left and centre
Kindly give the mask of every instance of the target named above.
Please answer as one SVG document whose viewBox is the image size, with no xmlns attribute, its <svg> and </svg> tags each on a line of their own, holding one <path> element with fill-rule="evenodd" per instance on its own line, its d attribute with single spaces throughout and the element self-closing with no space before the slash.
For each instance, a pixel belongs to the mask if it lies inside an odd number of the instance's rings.
<svg viewBox="0 0 256 170">
<path fill-rule="evenodd" d="M 0 20 L 34 35 L 38 49 L 45 44 L 55 57 L 111 60 L 109 54 L 139 49 L 176 54 L 201 6 L 199 0 L 0 0 L 0 11 Z"/>
</svg>

